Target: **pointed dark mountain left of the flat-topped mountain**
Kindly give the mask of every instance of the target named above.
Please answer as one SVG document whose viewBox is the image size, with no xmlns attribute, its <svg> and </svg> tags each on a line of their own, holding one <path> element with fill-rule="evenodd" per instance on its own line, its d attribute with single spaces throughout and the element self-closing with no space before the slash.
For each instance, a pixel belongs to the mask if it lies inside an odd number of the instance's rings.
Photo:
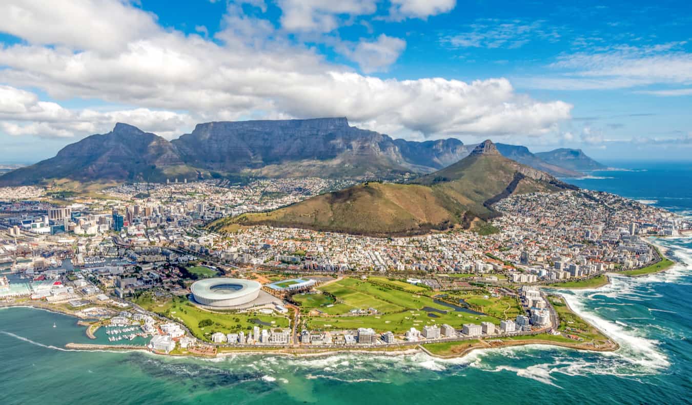
<svg viewBox="0 0 692 405">
<path fill-rule="evenodd" d="M 107 134 L 87 136 L 67 145 L 51 159 L 12 170 L 0 186 L 76 181 L 165 181 L 167 175 L 197 178 L 175 147 L 155 134 L 118 123 Z"/>
</svg>

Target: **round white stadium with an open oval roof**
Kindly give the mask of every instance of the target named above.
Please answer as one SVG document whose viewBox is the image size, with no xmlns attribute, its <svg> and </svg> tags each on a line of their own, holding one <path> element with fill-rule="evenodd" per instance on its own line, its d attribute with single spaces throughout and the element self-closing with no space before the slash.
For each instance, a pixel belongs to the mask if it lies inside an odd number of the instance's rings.
<svg viewBox="0 0 692 405">
<path fill-rule="evenodd" d="M 239 278 L 207 278 L 192 284 L 192 298 L 210 307 L 237 307 L 251 303 L 260 295 L 262 285 Z"/>
</svg>

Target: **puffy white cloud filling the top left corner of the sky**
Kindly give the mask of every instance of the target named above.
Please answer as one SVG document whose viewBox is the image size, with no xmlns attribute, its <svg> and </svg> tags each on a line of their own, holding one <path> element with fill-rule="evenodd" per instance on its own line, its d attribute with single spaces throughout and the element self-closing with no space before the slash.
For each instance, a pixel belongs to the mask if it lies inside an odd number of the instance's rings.
<svg viewBox="0 0 692 405">
<path fill-rule="evenodd" d="M 124 1 L 3 0 L 0 31 L 33 44 L 115 51 L 158 28 L 156 18 Z"/>
</svg>

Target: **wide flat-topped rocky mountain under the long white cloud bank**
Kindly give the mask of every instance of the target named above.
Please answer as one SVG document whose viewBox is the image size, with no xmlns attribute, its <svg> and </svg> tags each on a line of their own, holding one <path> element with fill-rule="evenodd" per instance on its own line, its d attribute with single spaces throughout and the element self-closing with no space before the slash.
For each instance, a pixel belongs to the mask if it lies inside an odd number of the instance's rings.
<svg viewBox="0 0 692 405">
<path fill-rule="evenodd" d="M 432 172 L 468 154 L 456 139 L 394 141 L 346 118 L 205 123 L 172 143 L 195 167 L 266 177 L 392 177 Z"/>
</svg>

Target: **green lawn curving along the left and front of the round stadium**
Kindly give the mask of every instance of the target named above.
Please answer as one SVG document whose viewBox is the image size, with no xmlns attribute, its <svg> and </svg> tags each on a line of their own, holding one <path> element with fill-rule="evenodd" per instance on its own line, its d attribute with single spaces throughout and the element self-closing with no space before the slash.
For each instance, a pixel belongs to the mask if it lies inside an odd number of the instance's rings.
<svg viewBox="0 0 692 405">
<path fill-rule="evenodd" d="M 271 324 L 272 327 L 288 327 L 289 319 L 283 316 L 244 314 L 221 314 L 208 312 L 190 303 L 185 297 L 155 298 L 152 294 L 143 294 L 135 300 L 137 305 L 156 312 L 166 318 L 175 319 L 185 324 L 195 337 L 210 341 L 213 332 L 240 332 L 252 330 L 254 326 L 267 327 L 253 320 Z M 200 326 L 201 321 L 210 320 L 211 325 Z"/>
</svg>

